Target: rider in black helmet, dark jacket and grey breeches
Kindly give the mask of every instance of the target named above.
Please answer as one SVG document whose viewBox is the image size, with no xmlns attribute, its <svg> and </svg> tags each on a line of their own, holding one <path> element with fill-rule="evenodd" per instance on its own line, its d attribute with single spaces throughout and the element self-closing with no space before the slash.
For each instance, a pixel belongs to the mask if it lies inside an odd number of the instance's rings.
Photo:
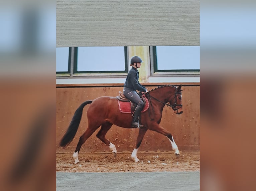
<svg viewBox="0 0 256 191">
<path fill-rule="evenodd" d="M 142 93 L 147 93 L 148 91 L 144 86 L 142 86 L 139 83 L 139 72 L 138 68 L 140 68 L 142 63 L 142 60 L 138 56 L 134 56 L 131 58 L 131 63 L 130 66 L 132 66 L 131 70 L 128 72 L 126 81 L 124 83 L 124 90 L 123 93 L 124 95 L 130 99 L 131 101 L 135 102 L 137 104 L 137 107 L 133 113 L 133 120 L 131 127 L 143 127 L 143 125 L 139 125 L 139 114 L 141 110 L 143 109 L 144 102 L 141 100 L 140 96 L 136 92 L 138 90 L 139 92 Z"/>
</svg>

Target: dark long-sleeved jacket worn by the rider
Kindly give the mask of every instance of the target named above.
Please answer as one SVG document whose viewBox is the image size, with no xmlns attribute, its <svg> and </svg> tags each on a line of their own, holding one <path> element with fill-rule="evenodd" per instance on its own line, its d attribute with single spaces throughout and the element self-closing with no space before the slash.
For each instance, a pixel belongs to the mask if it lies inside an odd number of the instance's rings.
<svg viewBox="0 0 256 191">
<path fill-rule="evenodd" d="M 134 91 L 138 90 L 139 92 L 146 92 L 146 88 L 139 83 L 139 71 L 132 67 L 128 72 L 126 81 L 124 83 L 125 88 L 132 89 Z"/>
</svg>

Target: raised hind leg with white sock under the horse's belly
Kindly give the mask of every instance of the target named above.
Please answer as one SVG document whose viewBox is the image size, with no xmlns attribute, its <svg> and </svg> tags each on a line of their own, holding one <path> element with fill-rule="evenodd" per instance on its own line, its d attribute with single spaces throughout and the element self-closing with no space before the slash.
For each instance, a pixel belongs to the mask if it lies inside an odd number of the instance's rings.
<svg viewBox="0 0 256 191">
<path fill-rule="evenodd" d="M 101 125 L 100 131 L 97 133 L 96 136 L 102 142 L 104 142 L 106 145 L 109 146 L 110 150 L 112 151 L 112 154 L 114 155 L 114 157 L 116 157 L 116 154 L 117 154 L 116 146 L 113 143 L 111 143 L 108 139 L 105 138 L 106 133 L 108 132 L 108 130 L 111 128 L 112 125 L 113 124 L 111 124 L 109 122 L 103 123 Z"/>
</svg>

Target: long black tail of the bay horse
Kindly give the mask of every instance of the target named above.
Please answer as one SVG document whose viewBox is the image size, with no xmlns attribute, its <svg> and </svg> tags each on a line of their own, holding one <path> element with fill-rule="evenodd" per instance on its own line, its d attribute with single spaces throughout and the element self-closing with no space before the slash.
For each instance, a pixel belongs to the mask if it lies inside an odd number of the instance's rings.
<svg viewBox="0 0 256 191">
<path fill-rule="evenodd" d="M 81 118 L 82 118 L 82 114 L 83 114 L 83 108 L 89 104 L 92 103 L 93 100 L 88 100 L 83 102 L 76 110 L 72 121 L 69 124 L 69 128 L 67 129 L 65 135 L 62 137 L 59 146 L 61 147 L 65 147 L 67 146 L 69 143 L 71 143 L 71 141 L 73 140 L 73 138 L 75 137 L 76 133 L 77 133 L 77 129 L 79 127 Z"/>
</svg>

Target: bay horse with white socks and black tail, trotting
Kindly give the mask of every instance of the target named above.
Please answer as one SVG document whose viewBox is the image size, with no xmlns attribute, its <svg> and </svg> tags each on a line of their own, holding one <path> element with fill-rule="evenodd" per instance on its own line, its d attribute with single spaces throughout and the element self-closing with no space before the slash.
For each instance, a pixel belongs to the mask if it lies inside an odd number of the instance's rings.
<svg viewBox="0 0 256 191">
<path fill-rule="evenodd" d="M 170 140 L 175 155 L 179 156 L 180 153 L 173 136 L 169 131 L 159 125 L 159 123 L 161 122 L 162 111 L 165 105 L 172 107 L 173 112 L 176 114 L 181 114 L 183 112 L 181 104 L 181 91 L 181 85 L 178 87 L 165 85 L 155 88 L 154 90 L 150 90 L 147 94 L 144 94 L 149 100 L 149 108 L 145 112 L 141 113 L 140 123 L 143 125 L 143 127 L 139 128 L 137 141 L 131 154 L 131 158 L 135 162 L 140 161 L 137 158 L 137 151 L 148 129 L 165 135 Z M 169 104 L 167 104 L 167 102 Z M 83 108 L 87 104 L 91 104 L 87 110 L 88 128 L 80 137 L 76 150 L 73 154 L 75 164 L 79 162 L 78 153 L 82 144 L 84 144 L 85 141 L 100 126 L 101 129 L 96 136 L 107 146 L 109 146 L 112 154 L 115 157 L 117 154 L 116 146 L 105 138 L 106 133 L 113 124 L 123 128 L 134 128 L 131 127 L 131 113 L 121 113 L 119 111 L 117 97 L 101 96 L 94 100 L 85 101 L 77 108 L 66 133 L 63 135 L 60 141 L 59 145 L 61 147 L 67 146 L 75 137 L 82 118 Z"/>
</svg>

